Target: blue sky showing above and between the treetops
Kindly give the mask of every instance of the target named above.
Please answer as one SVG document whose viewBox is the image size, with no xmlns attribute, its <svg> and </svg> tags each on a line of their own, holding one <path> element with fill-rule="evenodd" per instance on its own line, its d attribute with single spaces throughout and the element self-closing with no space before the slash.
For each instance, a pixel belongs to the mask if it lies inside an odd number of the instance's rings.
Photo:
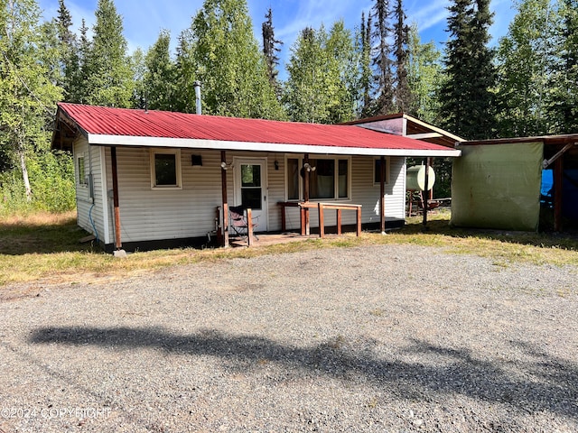
<svg viewBox="0 0 578 433">
<path fill-rule="evenodd" d="M 94 23 L 94 11 L 98 0 L 65 0 L 75 27 L 84 18 L 89 25 Z M 161 30 L 171 32 L 176 41 L 182 30 L 191 25 L 191 17 L 202 6 L 202 0 L 116 0 L 117 11 L 123 16 L 125 37 L 130 51 L 136 47 L 146 51 L 156 41 Z M 275 37 L 284 41 L 282 60 L 289 55 L 297 34 L 304 27 L 319 28 L 322 23 L 330 27 L 341 18 L 346 26 L 359 26 L 361 12 L 368 13 L 373 0 L 248 0 L 249 13 L 253 19 L 256 38 L 261 42 L 261 23 L 265 21 L 268 7 L 273 9 Z M 44 17 L 56 16 L 58 0 L 39 0 Z M 416 22 L 422 41 L 435 41 L 440 47 L 447 40 L 447 6 L 450 0 L 405 0 L 408 22 Z M 515 14 L 511 0 L 492 0 L 495 12 L 494 25 L 490 29 L 493 42 L 498 41 L 508 31 L 508 23 Z"/>
</svg>

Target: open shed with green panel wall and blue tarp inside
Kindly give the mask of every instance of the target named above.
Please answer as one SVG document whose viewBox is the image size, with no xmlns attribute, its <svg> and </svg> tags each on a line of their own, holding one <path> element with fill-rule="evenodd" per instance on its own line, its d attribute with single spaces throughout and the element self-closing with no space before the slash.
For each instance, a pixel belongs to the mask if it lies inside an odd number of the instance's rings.
<svg viewBox="0 0 578 433">
<path fill-rule="evenodd" d="M 578 134 L 459 143 L 452 225 L 561 231 L 578 226 Z"/>
</svg>

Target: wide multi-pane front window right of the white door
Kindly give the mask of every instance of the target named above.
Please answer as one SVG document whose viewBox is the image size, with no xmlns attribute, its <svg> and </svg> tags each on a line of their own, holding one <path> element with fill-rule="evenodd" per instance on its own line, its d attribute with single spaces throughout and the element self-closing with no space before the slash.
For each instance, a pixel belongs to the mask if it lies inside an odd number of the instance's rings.
<svg viewBox="0 0 578 433">
<path fill-rule="evenodd" d="M 349 158 L 310 158 L 309 198 L 350 198 Z M 303 158 L 287 158 L 287 199 L 303 199 Z"/>
</svg>

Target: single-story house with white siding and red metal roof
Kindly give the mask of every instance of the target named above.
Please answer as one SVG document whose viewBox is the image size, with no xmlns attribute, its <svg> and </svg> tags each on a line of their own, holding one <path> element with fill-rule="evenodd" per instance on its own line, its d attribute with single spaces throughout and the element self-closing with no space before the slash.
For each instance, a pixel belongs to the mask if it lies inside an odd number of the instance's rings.
<svg viewBox="0 0 578 433">
<path fill-rule="evenodd" d="M 313 201 L 361 205 L 364 226 L 403 226 L 406 157 L 461 154 L 359 125 L 67 103 L 58 105 L 51 147 L 73 153 L 78 224 L 108 251 L 211 234 L 228 244 L 223 209 L 233 205 L 252 209 L 256 232 L 300 227 L 298 208 L 283 205 Z M 332 214 L 325 224 L 337 225 Z M 343 224 L 355 223 L 349 214 Z"/>
</svg>

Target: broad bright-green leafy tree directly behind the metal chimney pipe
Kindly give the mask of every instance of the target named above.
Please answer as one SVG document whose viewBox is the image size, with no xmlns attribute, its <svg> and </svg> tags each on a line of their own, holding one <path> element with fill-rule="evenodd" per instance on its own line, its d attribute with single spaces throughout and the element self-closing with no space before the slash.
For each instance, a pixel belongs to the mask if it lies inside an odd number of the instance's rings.
<svg viewBox="0 0 578 433">
<path fill-rule="evenodd" d="M 180 98 L 194 110 L 192 82 L 202 84 L 207 114 L 283 118 L 266 62 L 253 33 L 247 0 L 205 0 L 191 28 L 180 39 L 178 80 Z M 189 77 L 184 74 L 189 74 Z"/>
</svg>

